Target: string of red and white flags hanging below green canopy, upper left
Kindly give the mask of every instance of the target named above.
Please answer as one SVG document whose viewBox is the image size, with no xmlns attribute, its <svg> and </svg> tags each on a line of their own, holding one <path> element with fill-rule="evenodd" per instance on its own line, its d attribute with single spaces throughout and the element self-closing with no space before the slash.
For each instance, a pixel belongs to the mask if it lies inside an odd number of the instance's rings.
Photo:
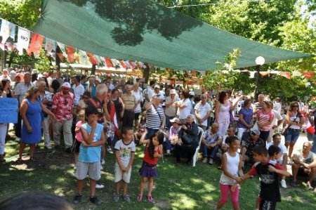
<svg viewBox="0 0 316 210">
<path fill-rule="evenodd" d="M 23 54 L 23 50 L 27 52 L 27 55 L 34 58 L 39 57 L 41 48 L 45 48 L 47 56 L 51 57 L 55 61 L 56 55 L 62 62 L 66 59 L 69 63 L 77 63 L 81 65 L 98 65 L 100 67 L 117 67 L 121 69 L 139 69 L 147 67 L 145 63 L 133 60 L 117 60 L 114 58 L 102 57 L 100 55 L 94 55 L 91 52 L 81 51 L 80 49 L 72 46 L 67 46 L 53 39 L 41 36 L 29 31 L 23 27 L 19 27 L 8 20 L 1 20 L 0 27 L 0 49 L 3 51 L 18 51 L 19 55 Z M 60 48 L 61 53 L 55 51 L 56 46 Z M 149 67 L 154 67 L 149 65 Z"/>
</svg>

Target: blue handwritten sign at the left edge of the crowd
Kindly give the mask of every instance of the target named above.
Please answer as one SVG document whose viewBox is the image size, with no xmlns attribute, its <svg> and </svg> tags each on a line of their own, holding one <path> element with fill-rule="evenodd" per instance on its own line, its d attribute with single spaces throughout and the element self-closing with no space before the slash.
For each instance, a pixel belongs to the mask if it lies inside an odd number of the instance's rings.
<svg viewBox="0 0 316 210">
<path fill-rule="evenodd" d="M 18 122 L 18 99 L 0 98 L 0 123 Z"/>
</svg>

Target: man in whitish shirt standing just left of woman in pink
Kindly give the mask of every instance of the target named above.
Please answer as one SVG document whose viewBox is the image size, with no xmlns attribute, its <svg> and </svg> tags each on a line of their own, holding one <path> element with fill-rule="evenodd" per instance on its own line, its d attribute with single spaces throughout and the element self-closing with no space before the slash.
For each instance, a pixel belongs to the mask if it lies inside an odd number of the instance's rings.
<svg viewBox="0 0 316 210">
<path fill-rule="evenodd" d="M 197 118 L 197 125 L 204 131 L 207 127 L 207 118 L 211 114 L 211 105 L 206 103 L 207 95 L 201 95 L 201 101 L 195 105 L 195 117 Z"/>
</svg>

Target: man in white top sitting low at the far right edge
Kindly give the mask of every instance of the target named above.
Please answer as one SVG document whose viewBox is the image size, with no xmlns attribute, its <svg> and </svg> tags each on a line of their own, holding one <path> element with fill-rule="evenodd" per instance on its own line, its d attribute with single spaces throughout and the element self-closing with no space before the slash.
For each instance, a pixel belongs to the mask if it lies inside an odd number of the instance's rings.
<svg viewBox="0 0 316 210">
<path fill-rule="evenodd" d="M 303 143 L 303 150 L 296 151 L 292 157 L 294 164 L 292 165 L 292 186 L 297 186 L 296 176 L 298 174 L 308 175 L 308 182 L 306 183 L 308 190 L 312 190 L 312 181 L 316 175 L 316 155 L 310 151 L 312 145 L 306 141 Z"/>
</svg>

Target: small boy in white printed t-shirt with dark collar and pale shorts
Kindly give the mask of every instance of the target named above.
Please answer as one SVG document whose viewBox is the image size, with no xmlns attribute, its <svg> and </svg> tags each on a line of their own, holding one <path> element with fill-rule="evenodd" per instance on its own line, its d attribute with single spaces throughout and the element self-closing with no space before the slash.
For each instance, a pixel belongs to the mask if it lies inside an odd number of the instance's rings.
<svg viewBox="0 0 316 210">
<path fill-rule="evenodd" d="M 123 139 L 115 143 L 115 163 L 114 181 L 115 193 L 114 202 L 119 202 L 119 188 L 123 182 L 123 199 L 125 202 L 131 202 L 127 192 L 127 184 L 131 179 L 131 165 L 135 157 L 136 146 L 133 142 L 133 129 L 131 127 L 124 127 L 121 129 L 121 136 Z"/>
</svg>

